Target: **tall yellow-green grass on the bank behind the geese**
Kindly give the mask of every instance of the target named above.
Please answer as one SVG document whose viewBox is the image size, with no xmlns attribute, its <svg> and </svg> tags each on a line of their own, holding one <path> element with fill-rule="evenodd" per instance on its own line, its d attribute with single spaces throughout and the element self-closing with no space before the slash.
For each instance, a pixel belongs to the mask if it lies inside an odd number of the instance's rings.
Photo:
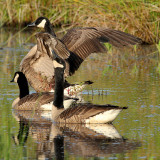
<svg viewBox="0 0 160 160">
<path fill-rule="evenodd" d="M 0 26 L 25 26 L 38 16 L 46 16 L 62 29 L 104 26 L 131 33 L 149 43 L 158 42 L 160 36 L 158 0 L 6 0 L 0 4 Z"/>
</svg>

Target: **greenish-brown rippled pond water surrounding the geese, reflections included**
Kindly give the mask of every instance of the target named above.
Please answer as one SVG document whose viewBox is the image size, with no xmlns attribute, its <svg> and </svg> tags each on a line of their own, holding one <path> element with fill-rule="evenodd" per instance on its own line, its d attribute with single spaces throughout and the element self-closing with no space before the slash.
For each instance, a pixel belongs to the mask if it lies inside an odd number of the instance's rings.
<svg viewBox="0 0 160 160">
<path fill-rule="evenodd" d="M 19 90 L 10 80 L 36 41 L 31 31 L 0 32 L 0 159 L 160 159 L 160 63 L 155 46 L 92 54 L 68 78 L 72 83 L 94 81 L 82 92 L 85 101 L 128 106 L 113 125 L 57 126 L 37 114 L 12 110 Z"/>
</svg>

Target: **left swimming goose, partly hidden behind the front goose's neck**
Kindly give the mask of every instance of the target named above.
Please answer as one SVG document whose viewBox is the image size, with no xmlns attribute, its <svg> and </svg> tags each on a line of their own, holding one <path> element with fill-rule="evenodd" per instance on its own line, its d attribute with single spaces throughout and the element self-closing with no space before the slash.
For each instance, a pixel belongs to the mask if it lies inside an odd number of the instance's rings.
<svg viewBox="0 0 160 160">
<path fill-rule="evenodd" d="M 29 94 L 27 79 L 22 72 L 15 72 L 11 82 L 18 83 L 20 90 L 19 97 L 12 103 L 12 108 L 17 110 L 52 110 L 53 92 Z M 68 108 L 76 100 L 78 99 L 65 96 L 64 106 Z"/>
</svg>

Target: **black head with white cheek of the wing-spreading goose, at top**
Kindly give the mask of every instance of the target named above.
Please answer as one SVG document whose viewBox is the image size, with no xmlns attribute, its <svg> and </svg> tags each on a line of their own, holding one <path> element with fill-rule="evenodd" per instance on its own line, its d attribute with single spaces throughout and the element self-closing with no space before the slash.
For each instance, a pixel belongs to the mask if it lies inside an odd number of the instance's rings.
<svg viewBox="0 0 160 160">
<path fill-rule="evenodd" d="M 28 24 L 28 27 L 38 27 L 38 28 L 45 28 L 46 25 L 49 25 L 50 21 L 46 17 L 39 17 L 36 21 L 31 24 Z"/>
</svg>

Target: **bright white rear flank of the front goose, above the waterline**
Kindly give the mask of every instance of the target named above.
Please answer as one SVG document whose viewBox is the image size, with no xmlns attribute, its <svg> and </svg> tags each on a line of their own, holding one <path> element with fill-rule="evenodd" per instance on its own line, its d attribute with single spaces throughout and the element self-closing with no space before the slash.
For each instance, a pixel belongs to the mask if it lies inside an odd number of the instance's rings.
<svg viewBox="0 0 160 160">
<path fill-rule="evenodd" d="M 122 109 L 110 109 L 96 116 L 86 119 L 86 123 L 110 123 L 115 120 Z"/>
</svg>

